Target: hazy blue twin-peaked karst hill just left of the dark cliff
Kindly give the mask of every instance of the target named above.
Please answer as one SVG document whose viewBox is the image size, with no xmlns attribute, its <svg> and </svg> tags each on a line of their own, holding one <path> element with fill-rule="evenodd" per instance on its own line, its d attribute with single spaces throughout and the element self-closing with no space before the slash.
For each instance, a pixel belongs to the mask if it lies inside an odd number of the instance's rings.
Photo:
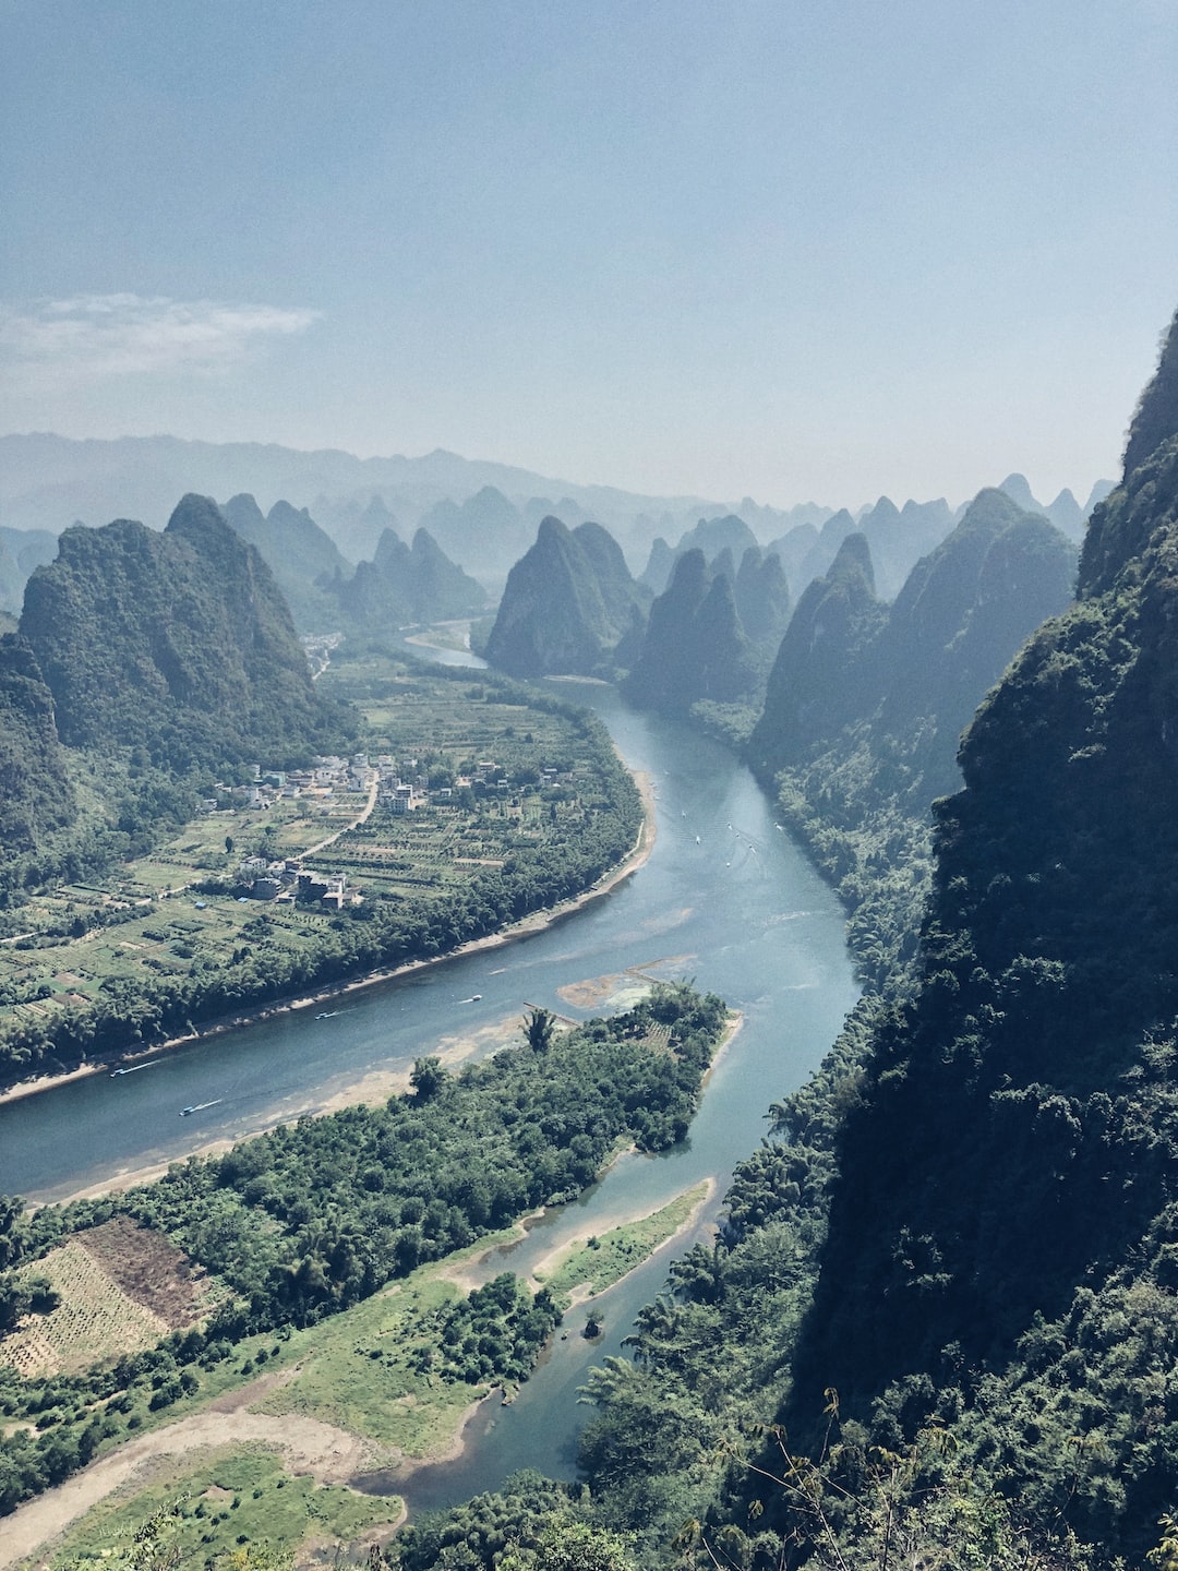
<svg viewBox="0 0 1178 1571">
<path fill-rule="evenodd" d="M 892 605 L 876 599 L 865 534 L 848 534 L 781 641 L 749 745 L 762 776 L 858 746 L 858 790 L 886 776 L 924 811 L 957 787 L 971 715 L 1019 644 L 1066 606 L 1074 577 L 1074 544 L 997 489 L 974 498 Z"/>
</svg>

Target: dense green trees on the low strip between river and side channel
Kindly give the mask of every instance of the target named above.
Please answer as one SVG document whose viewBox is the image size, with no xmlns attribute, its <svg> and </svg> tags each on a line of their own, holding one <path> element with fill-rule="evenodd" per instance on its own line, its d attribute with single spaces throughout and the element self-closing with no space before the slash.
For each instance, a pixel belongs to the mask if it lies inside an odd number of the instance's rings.
<svg viewBox="0 0 1178 1571">
<path fill-rule="evenodd" d="M 303 1332 L 346 1316 L 390 1280 L 418 1285 L 377 1309 L 375 1342 L 357 1340 L 350 1324 L 344 1360 L 347 1378 L 374 1387 L 386 1412 L 438 1386 L 462 1387 L 462 1406 L 490 1384 L 526 1379 L 559 1318 L 548 1288 L 532 1296 L 504 1274 L 459 1299 L 415 1273 L 580 1194 L 625 1144 L 655 1152 L 683 1139 L 724 1023 L 718 998 L 660 983 L 633 1009 L 572 1031 L 532 1016 L 518 1048 L 457 1075 L 419 1059 L 410 1090 L 383 1106 L 300 1119 L 225 1156 L 174 1164 L 126 1194 L 31 1214 L 9 1203 L 0 1291 L 14 1312 L 52 1315 L 38 1263 L 113 1222 L 166 1236 L 184 1273 L 206 1279 L 212 1309 L 72 1373 L 20 1378 L 0 1362 L 0 1510 L 129 1434 L 207 1404 L 264 1364 L 281 1367 L 291 1342 L 302 1360 Z M 390 1316 L 401 1316 L 396 1335 Z M 336 1370 L 336 1401 L 344 1387 Z M 298 1386 L 284 1395 L 298 1403 Z M 419 1415 L 408 1419 L 423 1426 Z"/>
</svg>

